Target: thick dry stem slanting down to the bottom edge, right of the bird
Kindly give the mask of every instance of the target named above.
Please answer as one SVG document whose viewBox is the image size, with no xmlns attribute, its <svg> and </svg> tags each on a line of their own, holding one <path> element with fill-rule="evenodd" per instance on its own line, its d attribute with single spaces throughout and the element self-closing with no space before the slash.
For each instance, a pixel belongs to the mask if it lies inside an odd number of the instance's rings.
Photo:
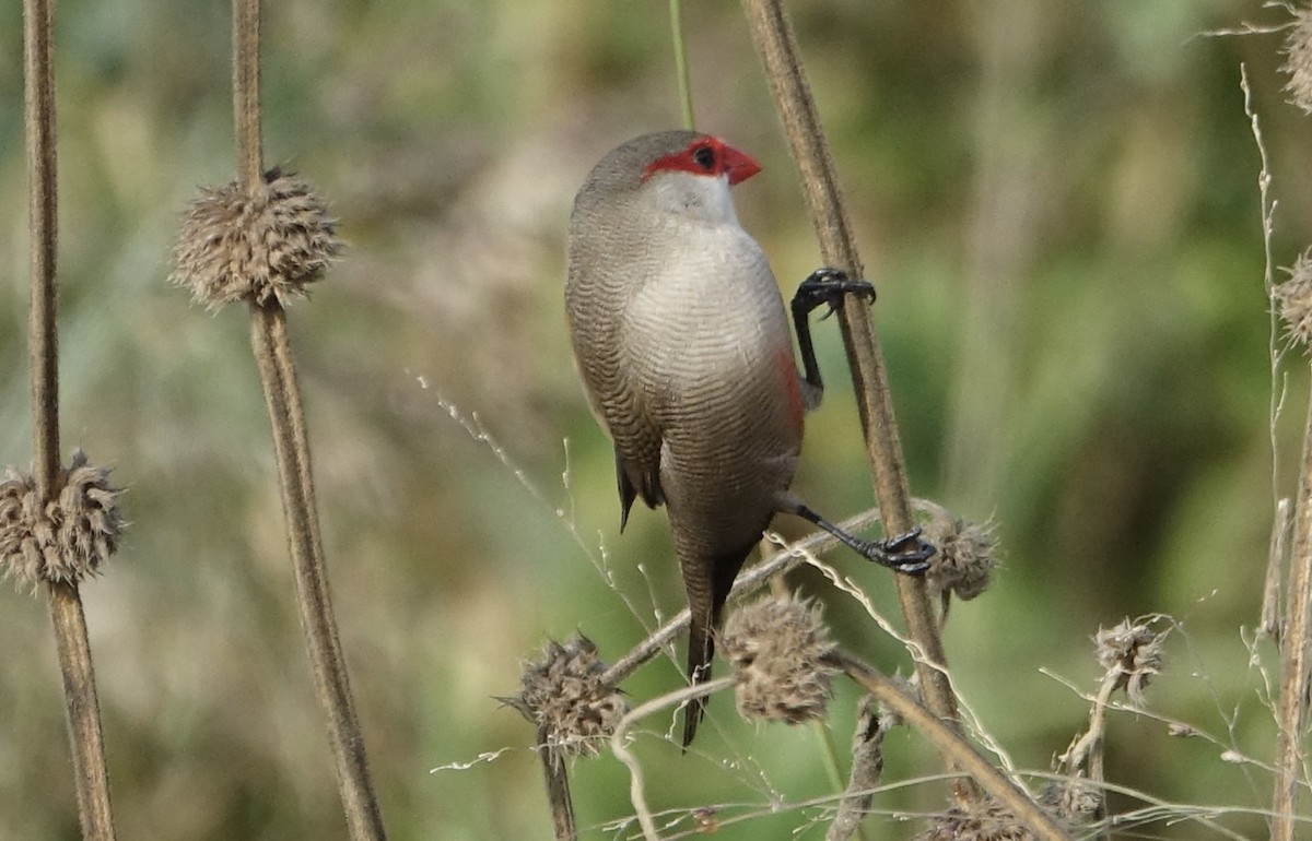
<svg viewBox="0 0 1312 841">
<path fill-rule="evenodd" d="M 1035 838 L 1042 841 L 1071 841 L 1071 836 L 1056 820 L 1022 791 L 1002 772 L 980 756 L 958 732 L 938 715 L 917 703 L 893 681 L 888 680 L 861 660 L 838 651 L 833 655 L 834 665 L 845 671 L 862 689 L 872 694 L 884 706 L 929 739 L 960 773 L 971 774 L 976 782 L 998 803 L 1005 806 L 1017 820 L 1022 821 Z"/>
</svg>

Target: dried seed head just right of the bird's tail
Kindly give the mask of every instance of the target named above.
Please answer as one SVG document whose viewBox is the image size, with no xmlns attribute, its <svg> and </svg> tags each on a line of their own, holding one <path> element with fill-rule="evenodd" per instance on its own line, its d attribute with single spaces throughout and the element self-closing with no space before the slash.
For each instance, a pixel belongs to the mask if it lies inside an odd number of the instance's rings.
<svg viewBox="0 0 1312 841">
<path fill-rule="evenodd" d="M 800 722 L 824 715 L 833 693 L 829 641 L 820 608 L 802 599 L 761 599 L 729 616 L 720 651 L 737 679 L 747 719 Z"/>
</svg>

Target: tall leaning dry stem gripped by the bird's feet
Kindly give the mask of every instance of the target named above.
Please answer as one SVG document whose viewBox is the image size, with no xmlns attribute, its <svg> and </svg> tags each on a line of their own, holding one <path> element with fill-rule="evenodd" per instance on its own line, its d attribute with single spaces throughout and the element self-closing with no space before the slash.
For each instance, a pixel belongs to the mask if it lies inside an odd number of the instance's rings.
<svg viewBox="0 0 1312 841">
<path fill-rule="evenodd" d="M 802 69 L 796 38 L 783 10 L 783 0 L 744 0 L 743 5 L 802 176 L 807 207 L 820 240 L 821 258 L 827 266 L 842 269 L 855 278 L 863 276 L 861 258 L 842 208 L 833 159 Z M 890 534 L 900 534 L 911 529 L 913 520 L 883 354 L 870 324 L 870 313 L 859 300 L 841 307 L 840 318 L 884 529 Z M 916 663 L 925 701 L 935 715 L 959 728 L 956 698 L 943 673 L 947 659 L 925 582 L 909 575 L 897 575 L 895 580 L 907 634 L 921 647 L 928 660 Z M 953 770 L 951 765 L 949 770 Z M 962 802 L 976 795 L 967 779 L 958 779 L 953 789 Z"/>
</svg>

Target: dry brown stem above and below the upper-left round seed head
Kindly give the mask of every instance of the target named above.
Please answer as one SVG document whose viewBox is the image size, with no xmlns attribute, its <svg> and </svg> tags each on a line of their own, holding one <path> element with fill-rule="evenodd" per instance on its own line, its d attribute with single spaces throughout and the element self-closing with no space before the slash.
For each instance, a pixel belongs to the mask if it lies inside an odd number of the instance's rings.
<svg viewBox="0 0 1312 841">
<path fill-rule="evenodd" d="M 235 0 L 232 4 L 232 113 L 236 122 L 237 178 L 248 193 L 253 193 L 264 177 L 258 0 Z M 319 534 L 304 413 L 297 388 L 291 345 L 287 341 L 286 310 L 277 303 L 251 305 L 251 345 L 273 427 L 300 626 L 306 634 L 315 689 L 328 719 L 328 740 L 346 812 L 346 827 L 356 841 L 386 838 L 378 795 L 369 774 L 365 738 L 350 694 L 346 662 L 337 639 L 323 540 Z"/>
</svg>

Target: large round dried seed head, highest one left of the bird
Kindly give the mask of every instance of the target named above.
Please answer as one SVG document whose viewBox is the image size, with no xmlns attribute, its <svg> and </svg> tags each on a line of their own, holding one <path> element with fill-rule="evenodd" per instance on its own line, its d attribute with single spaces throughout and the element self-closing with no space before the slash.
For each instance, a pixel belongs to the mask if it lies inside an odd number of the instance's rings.
<svg viewBox="0 0 1312 841">
<path fill-rule="evenodd" d="M 336 220 L 310 185 L 278 168 L 252 194 L 202 189 L 182 220 L 169 280 L 210 309 L 236 300 L 286 305 L 341 250 Z"/>
</svg>

